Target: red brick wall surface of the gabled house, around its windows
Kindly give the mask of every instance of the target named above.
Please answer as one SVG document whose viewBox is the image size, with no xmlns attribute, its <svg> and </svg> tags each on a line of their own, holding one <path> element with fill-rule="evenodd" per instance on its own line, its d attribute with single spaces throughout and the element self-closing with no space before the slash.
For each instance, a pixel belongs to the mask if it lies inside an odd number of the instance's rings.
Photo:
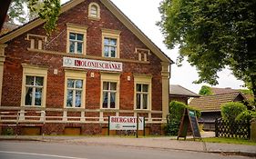
<svg viewBox="0 0 256 159">
<path fill-rule="evenodd" d="M 91 20 L 87 17 L 87 8 L 90 2 L 87 0 L 77 5 L 67 12 L 59 15 L 56 31 L 48 36 L 47 44 L 43 43 L 47 51 L 56 51 L 66 53 L 67 51 L 67 23 L 77 25 L 87 25 L 87 55 L 101 56 L 102 37 L 101 28 L 108 28 L 121 31 L 120 34 L 120 58 L 138 60 L 138 54 L 135 54 L 135 48 L 148 49 L 146 45 L 138 40 L 128 28 L 123 25 L 118 18 L 113 15 L 106 6 L 100 1 L 94 0 L 100 6 L 100 20 Z M 3 106 L 20 106 L 23 68 L 21 64 L 47 66 L 47 85 L 46 85 L 46 108 L 63 108 L 64 104 L 64 84 L 65 72 L 62 66 L 63 55 L 51 55 L 28 51 L 30 41 L 25 40 L 27 34 L 46 35 L 43 25 L 28 31 L 23 35 L 7 43 L 5 48 L 5 65 L 3 78 Z M 152 75 L 152 110 L 161 111 L 162 109 L 162 85 L 161 85 L 161 65 L 160 59 L 154 55 L 148 55 L 150 64 L 127 63 L 123 62 L 123 72 L 120 75 L 120 109 L 134 109 L 134 74 Z M 57 75 L 54 75 L 54 69 L 57 69 Z M 96 70 L 86 70 L 86 108 L 99 109 L 100 101 L 100 72 Z M 94 73 L 94 77 L 90 76 Z M 130 76 L 130 81 L 128 81 Z M 87 113 L 90 114 L 90 113 Z M 87 115 L 86 114 L 86 115 Z M 95 113 L 98 116 L 98 113 Z M 111 114 L 111 113 L 110 113 Z M 106 114 L 104 114 L 106 116 Z M 63 125 L 47 124 L 47 134 L 51 127 L 59 134 Z M 97 127 L 97 126 L 93 126 Z M 87 133 L 87 128 L 82 129 Z M 95 128 L 92 132 L 100 132 Z M 53 132 L 55 133 L 55 132 Z"/>
</svg>

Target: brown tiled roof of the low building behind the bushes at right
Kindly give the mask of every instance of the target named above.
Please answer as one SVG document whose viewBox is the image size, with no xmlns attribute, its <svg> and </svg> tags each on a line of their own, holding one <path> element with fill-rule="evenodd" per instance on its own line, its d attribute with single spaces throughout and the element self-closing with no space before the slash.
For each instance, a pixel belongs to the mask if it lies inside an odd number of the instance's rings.
<svg viewBox="0 0 256 159">
<path fill-rule="evenodd" d="M 212 94 L 200 96 L 190 101 L 189 105 L 200 109 L 201 112 L 220 112 L 221 104 L 228 102 L 238 102 L 245 99 L 240 92 L 229 94 Z"/>
</svg>

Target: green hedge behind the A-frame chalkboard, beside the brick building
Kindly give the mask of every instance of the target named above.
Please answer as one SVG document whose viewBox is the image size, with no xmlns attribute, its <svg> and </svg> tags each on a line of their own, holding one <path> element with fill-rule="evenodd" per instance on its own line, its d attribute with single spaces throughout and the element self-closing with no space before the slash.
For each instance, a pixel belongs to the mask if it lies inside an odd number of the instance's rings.
<svg viewBox="0 0 256 159">
<path fill-rule="evenodd" d="M 168 124 L 164 127 L 164 131 L 168 135 L 177 135 L 179 132 L 179 124 L 184 113 L 184 109 L 196 111 L 197 117 L 200 117 L 200 111 L 189 107 L 181 102 L 173 101 L 169 104 Z"/>
</svg>

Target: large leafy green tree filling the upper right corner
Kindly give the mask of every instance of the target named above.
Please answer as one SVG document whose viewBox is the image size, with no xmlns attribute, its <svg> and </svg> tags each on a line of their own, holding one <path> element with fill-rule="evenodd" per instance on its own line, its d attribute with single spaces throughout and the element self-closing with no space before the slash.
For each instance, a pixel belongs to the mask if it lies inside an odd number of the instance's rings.
<svg viewBox="0 0 256 159">
<path fill-rule="evenodd" d="M 179 45 L 179 62 L 187 56 L 198 69 L 195 83 L 218 84 L 229 67 L 256 102 L 255 8 L 255 0 L 163 0 L 158 25 L 169 48 Z"/>
</svg>

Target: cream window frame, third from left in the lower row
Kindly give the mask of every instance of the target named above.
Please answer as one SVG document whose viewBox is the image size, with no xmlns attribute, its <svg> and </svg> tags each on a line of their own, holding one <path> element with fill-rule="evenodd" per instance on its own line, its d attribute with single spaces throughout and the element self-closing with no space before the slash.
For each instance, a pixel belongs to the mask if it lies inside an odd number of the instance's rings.
<svg viewBox="0 0 256 159">
<path fill-rule="evenodd" d="M 117 83 L 117 90 L 116 92 L 116 101 L 115 101 L 115 108 L 110 108 L 108 104 L 108 108 L 103 108 L 103 83 Z M 101 73 L 101 82 L 100 82 L 100 109 L 119 109 L 119 94 L 120 94 L 120 75 L 119 74 L 111 74 L 111 73 Z"/>
</svg>

